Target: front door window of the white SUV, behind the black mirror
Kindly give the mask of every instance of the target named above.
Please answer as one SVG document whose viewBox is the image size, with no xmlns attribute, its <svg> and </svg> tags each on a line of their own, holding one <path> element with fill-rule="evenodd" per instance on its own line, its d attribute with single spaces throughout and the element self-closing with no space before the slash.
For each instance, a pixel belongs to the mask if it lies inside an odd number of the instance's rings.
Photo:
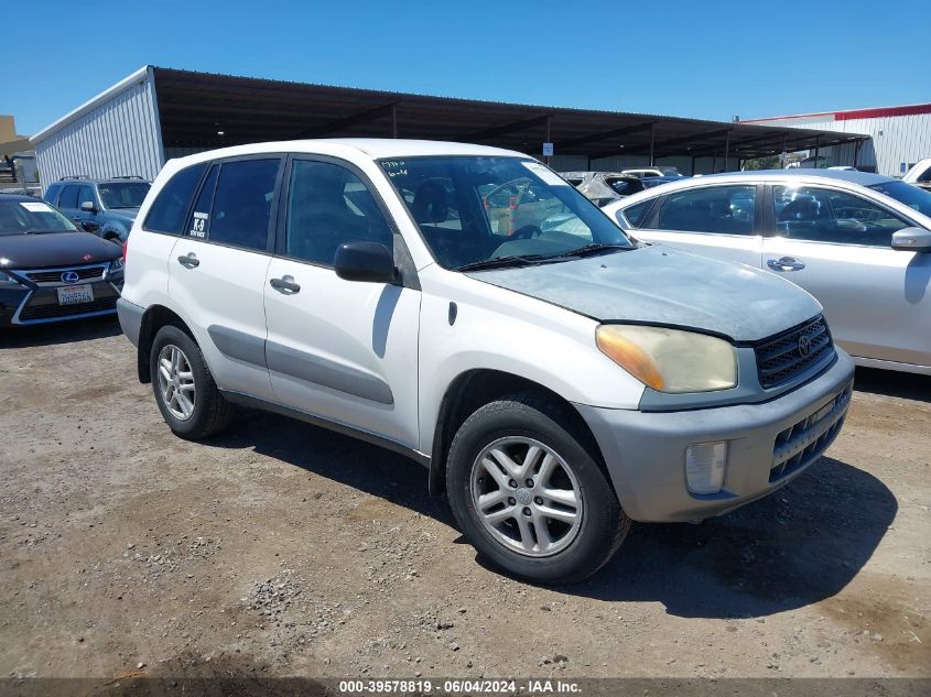
<svg viewBox="0 0 931 697">
<path fill-rule="evenodd" d="M 329 162 L 295 160 L 285 219 L 285 253 L 332 266 L 346 242 L 379 242 L 392 249 L 391 228 L 365 183 Z"/>
</svg>

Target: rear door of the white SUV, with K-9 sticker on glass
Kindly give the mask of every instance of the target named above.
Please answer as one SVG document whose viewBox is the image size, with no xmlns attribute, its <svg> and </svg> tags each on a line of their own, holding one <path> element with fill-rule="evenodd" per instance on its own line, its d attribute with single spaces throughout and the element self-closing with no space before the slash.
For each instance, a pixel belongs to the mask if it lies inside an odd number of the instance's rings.
<svg viewBox="0 0 931 697">
<path fill-rule="evenodd" d="M 215 162 L 169 262 L 169 294 L 217 385 L 260 399 L 272 397 L 262 287 L 282 162 L 280 155 Z"/>
</svg>

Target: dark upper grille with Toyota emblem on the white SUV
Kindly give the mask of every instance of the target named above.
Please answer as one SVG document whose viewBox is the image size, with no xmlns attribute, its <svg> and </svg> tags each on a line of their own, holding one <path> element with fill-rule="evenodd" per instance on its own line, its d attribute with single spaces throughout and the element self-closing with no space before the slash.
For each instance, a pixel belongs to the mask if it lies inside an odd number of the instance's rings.
<svg viewBox="0 0 931 697">
<path fill-rule="evenodd" d="M 800 341 L 808 337 L 809 352 L 803 356 Z M 756 346 L 757 374 L 764 389 L 777 388 L 834 357 L 834 344 L 824 317 L 816 317 L 803 325 Z"/>
</svg>

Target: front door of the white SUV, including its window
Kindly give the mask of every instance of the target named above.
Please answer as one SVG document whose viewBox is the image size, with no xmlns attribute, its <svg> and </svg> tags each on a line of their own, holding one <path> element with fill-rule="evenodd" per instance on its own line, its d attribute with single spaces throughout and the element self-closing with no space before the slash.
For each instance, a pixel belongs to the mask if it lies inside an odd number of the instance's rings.
<svg viewBox="0 0 931 697">
<path fill-rule="evenodd" d="M 416 448 L 420 291 L 339 279 L 344 242 L 393 250 L 394 232 L 349 165 L 295 156 L 264 283 L 277 401 Z"/>
</svg>

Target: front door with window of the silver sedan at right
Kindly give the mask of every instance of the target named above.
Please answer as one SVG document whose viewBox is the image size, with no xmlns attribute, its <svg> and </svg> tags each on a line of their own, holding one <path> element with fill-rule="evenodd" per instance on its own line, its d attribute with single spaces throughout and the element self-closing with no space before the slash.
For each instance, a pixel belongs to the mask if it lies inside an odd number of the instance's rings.
<svg viewBox="0 0 931 697">
<path fill-rule="evenodd" d="M 772 186 L 764 269 L 824 306 L 853 356 L 931 364 L 931 254 L 897 251 L 910 222 L 881 204 L 826 186 Z"/>
</svg>

